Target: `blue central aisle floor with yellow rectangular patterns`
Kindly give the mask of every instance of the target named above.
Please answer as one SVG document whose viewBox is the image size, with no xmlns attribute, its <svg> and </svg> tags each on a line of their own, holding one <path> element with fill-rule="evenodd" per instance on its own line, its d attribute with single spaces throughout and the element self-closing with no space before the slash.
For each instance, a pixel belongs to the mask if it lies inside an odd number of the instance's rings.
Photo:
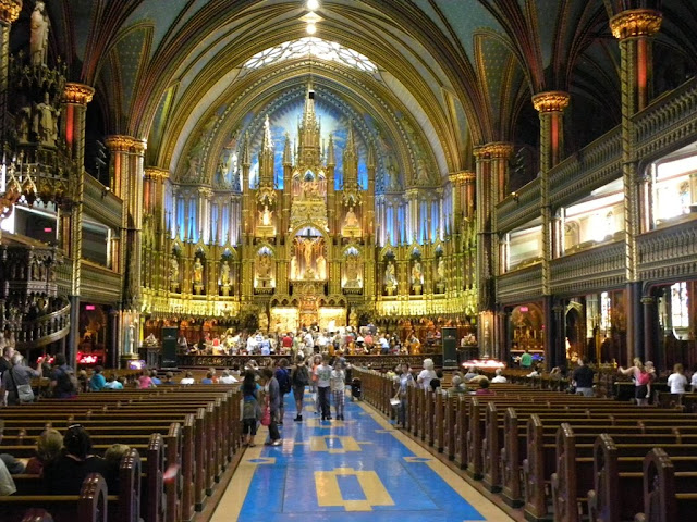
<svg viewBox="0 0 697 522">
<path fill-rule="evenodd" d="M 345 421 L 319 421 L 309 394 L 304 422 L 292 394 L 285 408 L 282 446 L 257 433 L 212 522 L 512 520 L 363 402 L 346 398 Z"/>
</svg>

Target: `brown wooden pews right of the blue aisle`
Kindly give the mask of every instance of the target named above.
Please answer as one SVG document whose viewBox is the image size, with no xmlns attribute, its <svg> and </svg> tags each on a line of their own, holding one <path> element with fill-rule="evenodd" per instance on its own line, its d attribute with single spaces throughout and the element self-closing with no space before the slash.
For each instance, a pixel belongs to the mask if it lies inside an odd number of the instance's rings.
<svg viewBox="0 0 697 522">
<path fill-rule="evenodd" d="M 365 399 L 393 414 L 393 382 L 358 371 Z M 697 512 L 697 414 L 519 385 L 496 395 L 409 388 L 406 431 L 526 520 L 688 520 Z"/>
</svg>

